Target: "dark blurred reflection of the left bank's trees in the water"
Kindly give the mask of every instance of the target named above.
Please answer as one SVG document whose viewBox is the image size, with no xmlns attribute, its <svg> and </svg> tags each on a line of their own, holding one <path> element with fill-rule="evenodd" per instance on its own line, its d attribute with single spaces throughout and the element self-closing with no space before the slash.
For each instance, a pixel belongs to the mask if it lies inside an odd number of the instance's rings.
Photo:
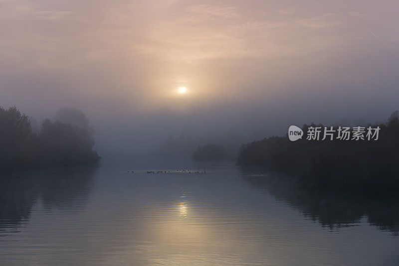
<svg viewBox="0 0 399 266">
<path fill-rule="evenodd" d="M 18 232 L 37 203 L 47 210 L 83 206 L 95 170 L 96 166 L 85 166 L 0 175 L 0 236 Z"/>
</svg>

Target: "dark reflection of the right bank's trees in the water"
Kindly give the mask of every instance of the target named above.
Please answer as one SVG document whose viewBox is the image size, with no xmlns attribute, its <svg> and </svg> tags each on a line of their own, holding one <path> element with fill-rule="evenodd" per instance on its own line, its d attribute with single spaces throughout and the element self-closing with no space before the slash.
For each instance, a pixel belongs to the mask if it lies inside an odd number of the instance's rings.
<svg viewBox="0 0 399 266">
<path fill-rule="evenodd" d="M 397 198 L 376 199 L 356 193 L 304 190 L 298 188 L 294 177 L 281 173 L 254 174 L 258 171 L 244 169 L 242 176 L 250 184 L 262 187 L 277 200 L 287 202 L 324 228 L 339 230 L 354 226 L 365 217 L 370 225 L 399 236 Z"/>
</svg>

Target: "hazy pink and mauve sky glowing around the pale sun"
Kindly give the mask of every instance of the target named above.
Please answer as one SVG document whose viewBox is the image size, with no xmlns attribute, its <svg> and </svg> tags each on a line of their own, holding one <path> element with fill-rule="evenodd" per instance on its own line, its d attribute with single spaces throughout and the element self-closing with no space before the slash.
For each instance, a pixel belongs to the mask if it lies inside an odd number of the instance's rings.
<svg viewBox="0 0 399 266">
<path fill-rule="evenodd" d="M 99 139 L 374 122 L 398 25 L 395 0 L 0 0 L 0 105 L 76 107 Z"/>
</svg>

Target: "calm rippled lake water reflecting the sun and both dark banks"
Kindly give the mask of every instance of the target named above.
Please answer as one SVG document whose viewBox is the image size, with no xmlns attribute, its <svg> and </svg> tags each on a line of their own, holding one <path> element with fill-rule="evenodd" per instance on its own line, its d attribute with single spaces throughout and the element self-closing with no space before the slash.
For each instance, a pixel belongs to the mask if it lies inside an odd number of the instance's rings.
<svg viewBox="0 0 399 266">
<path fill-rule="evenodd" d="M 0 265 L 399 265 L 396 201 L 185 165 L 206 173 L 147 163 L 2 176 Z"/>
</svg>

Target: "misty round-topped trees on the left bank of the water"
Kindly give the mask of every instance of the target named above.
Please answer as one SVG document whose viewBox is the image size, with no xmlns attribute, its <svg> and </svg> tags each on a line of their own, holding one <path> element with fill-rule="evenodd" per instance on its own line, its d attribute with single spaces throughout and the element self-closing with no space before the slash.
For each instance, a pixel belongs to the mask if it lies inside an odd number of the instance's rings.
<svg viewBox="0 0 399 266">
<path fill-rule="evenodd" d="M 15 106 L 0 107 L 0 172 L 97 163 L 94 129 L 79 110 L 64 108 L 55 121 L 46 119 L 38 132 Z"/>
</svg>

